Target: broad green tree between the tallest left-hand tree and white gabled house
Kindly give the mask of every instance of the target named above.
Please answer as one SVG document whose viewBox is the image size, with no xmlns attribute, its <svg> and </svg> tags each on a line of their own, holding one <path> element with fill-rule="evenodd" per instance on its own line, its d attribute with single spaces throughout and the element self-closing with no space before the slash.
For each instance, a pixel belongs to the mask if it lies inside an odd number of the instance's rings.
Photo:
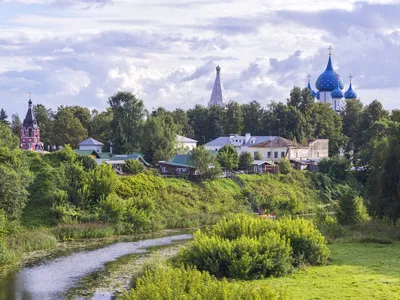
<svg viewBox="0 0 400 300">
<path fill-rule="evenodd" d="M 141 149 L 146 161 L 157 163 L 175 154 L 177 126 L 170 114 L 150 116 L 144 125 Z"/>
</svg>

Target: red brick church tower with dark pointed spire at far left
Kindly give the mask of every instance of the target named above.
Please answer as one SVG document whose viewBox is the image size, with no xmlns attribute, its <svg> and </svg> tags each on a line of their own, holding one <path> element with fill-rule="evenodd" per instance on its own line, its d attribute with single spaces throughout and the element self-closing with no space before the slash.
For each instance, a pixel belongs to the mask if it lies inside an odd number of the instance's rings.
<svg viewBox="0 0 400 300">
<path fill-rule="evenodd" d="M 33 114 L 31 97 L 29 97 L 28 104 L 28 112 L 24 123 L 22 123 L 20 147 L 23 150 L 43 151 L 43 143 L 40 142 L 40 130 Z"/>
</svg>

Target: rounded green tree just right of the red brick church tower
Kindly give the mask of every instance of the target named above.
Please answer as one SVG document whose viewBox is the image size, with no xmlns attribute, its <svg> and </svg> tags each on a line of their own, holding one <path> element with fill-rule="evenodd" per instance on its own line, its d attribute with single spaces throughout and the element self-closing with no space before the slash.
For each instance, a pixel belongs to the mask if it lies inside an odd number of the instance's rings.
<svg viewBox="0 0 400 300">
<path fill-rule="evenodd" d="M 52 133 L 54 144 L 60 146 L 69 144 L 74 148 L 88 137 L 88 132 L 79 119 L 66 107 L 58 109 L 53 122 Z"/>
</svg>

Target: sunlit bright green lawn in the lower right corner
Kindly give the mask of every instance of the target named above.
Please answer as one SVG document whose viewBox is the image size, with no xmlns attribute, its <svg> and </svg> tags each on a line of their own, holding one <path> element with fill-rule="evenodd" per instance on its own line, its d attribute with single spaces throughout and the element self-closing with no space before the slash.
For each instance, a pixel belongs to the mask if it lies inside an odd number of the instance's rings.
<svg viewBox="0 0 400 300">
<path fill-rule="evenodd" d="M 400 243 L 333 244 L 332 261 L 283 278 L 253 281 L 289 299 L 400 299 Z"/>
</svg>

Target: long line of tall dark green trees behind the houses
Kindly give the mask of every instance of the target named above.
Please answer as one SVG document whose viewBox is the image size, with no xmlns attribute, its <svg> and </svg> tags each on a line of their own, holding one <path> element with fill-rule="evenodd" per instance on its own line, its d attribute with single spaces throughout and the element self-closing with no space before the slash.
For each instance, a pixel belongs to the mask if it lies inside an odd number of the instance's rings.
<svg viewBox="0 0 400 300">
<path fill-rule="evenodd" d="M 347 101 L 338 115 L 328 104 L 315 102 L 308 89 L 298 87 L 291 90 L 286 103 L 272 102 L 268 106 L 257 101 L 246 104 L 231 101 L 226 107 L 196 105 L 186 111 L 180 108 L 168 111 L 162 107 L 148 111 L 143 101 L 129 92 L 116 93 L 108 104 L 103 112 L 81 106 L 52 110 L 42 104 L 35 105 L 45 149 L 47 145 L 66 144 L 76 148 L 79 142 L 92 137 L 105 144 L 105 151 L 112 146 L 114 153 L 141 152 L 152 163 L 173 156 L 175 134 L 193 138 L 201 145 L 223 135 L 251 133 L 282 136 L 302 144 L 310 139 L 327 138 L 331 155 L 344 149 L 356 159 L 368 145 L 374 126 L 378 126 L 375 122 L 389 117 L 379 101 L 364 107 L 359 100 Z M 2 109 L 0 122 L 20 135 L 21 118 L 17 114 L 8 122 Z"/>
</svg>

